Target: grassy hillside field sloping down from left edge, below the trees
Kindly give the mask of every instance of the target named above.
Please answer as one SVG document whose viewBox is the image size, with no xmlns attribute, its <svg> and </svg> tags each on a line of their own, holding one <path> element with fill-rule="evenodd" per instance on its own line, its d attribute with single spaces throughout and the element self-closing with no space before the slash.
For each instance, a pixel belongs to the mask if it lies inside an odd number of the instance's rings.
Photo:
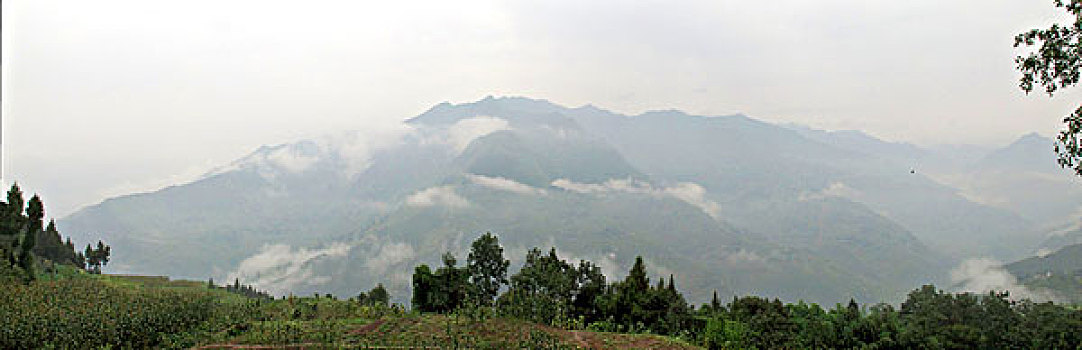
<svg viewBox="0 0 1082 350">
<path fill-rule="evenodd" d="M 0 288 L 0 348 L 697 349 L 656 335 L 406 312 L 329 297 L 245 297 L 204 282 L 74 269 Z"/>
</svg>

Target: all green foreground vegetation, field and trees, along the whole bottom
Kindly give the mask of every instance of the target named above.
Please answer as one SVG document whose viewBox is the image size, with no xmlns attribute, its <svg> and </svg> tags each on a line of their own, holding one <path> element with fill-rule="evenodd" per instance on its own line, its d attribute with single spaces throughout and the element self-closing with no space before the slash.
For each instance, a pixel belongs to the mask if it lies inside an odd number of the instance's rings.
<svg viewBox="0 0 1082 350">
<path fill-rule="evenodd" d="M 16 208 L 16 209 L 13 209 Z M 5 278 L 0 280 L 0 348 L 301 348 L 467 349 L 1071 349 L 1082 347 L 1082 311 L 1005 293 L 949 294 L 932 285 L 898 309 L 854 300 L 826 310 L 760 297 L 722 304 L 715 291 L 696 308 L 674 276 L 651 284 L 642 257 L 622 281 L 594 263 L 530 249 L 507 276 L 498 236 L 471 246 L 466 264 L 413 273 L 412 311 L 391 304 L 382 284 L 334 296 L 275 299 L 234 280 L 169 281 L 103 275 L 110 248 L 76 252 L 60 244 L 34 196 L 17 186 L 3 203 Z M 14 233 L 14 234 L 13 234 Z M 39 239 L 44 237 L 45 239 Z M 42 242 L 43 246 L 37 246 Z M 1077 247 L 1010 267 L 1016 273 L 1077 272 Z M 1074 276 L 1074 275 L 1072 275 Z M 502 290 L 502 294 L 500 293 Z"/>
</svg>

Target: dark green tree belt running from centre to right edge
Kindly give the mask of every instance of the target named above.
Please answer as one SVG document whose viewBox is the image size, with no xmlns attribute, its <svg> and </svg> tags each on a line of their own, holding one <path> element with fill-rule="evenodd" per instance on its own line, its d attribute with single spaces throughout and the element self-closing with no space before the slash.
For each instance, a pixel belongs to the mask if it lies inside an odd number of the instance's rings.
<svg viewBox="0 0 1082 350">
<path fill-rule="evenodd" d="M 474 250 L 499 242 L 486 234 Z M 479 255 L 471 251 L 471 256 Z M 502 256 L 490 256 L 502 261 Z M 469 290 L 466 269 L 431 273 L 418 267 L 414 309 L 447 314 L 498 315 L 562 329 L 661 334 L 711 349 L 1072 349 L 1082 346 L 1082 312 L 1052 302 L 1014 301 L 1006 293 L 949 294 L 925 285 L 899 309 L 861 308 L 856 301 L 824 310 L 818 304 L 784 304 L 778 299 L 713 300 L 696 309 L 677 291 L 673 276 L 651 286 L 642 258 L 628 276 L 606 284 L 589 261 L 578 268 L 556 250 L 533 248 L 494 306 L 454 294 Z"/>
</svg>

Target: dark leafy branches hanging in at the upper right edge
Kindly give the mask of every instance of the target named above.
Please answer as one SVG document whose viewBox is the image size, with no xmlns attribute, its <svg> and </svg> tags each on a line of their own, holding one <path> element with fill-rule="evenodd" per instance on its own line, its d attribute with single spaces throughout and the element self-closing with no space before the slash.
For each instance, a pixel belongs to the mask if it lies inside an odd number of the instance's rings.
<svg viewBox="0 0 1082 350">
<path fill-rule="evenodd" d="M 1038 47 L 1026 56 L 1015 57 L 1021 73 L 1019 87 L 1026 93 L 1034 83 L 1048 95 L 1074 86 L 1082 76 L 1082 0 L 1053 0 L 1074 17 L 1072 25 L 1053 24 L 1046 29 L 1030 29 L 1015 36 L 1015 48 Z M 1061 167 L 1082 176 L 1082 106 L 1064 118 L 1065 128 L 1056 137 L 1055 152 Z"/>
</svg>

